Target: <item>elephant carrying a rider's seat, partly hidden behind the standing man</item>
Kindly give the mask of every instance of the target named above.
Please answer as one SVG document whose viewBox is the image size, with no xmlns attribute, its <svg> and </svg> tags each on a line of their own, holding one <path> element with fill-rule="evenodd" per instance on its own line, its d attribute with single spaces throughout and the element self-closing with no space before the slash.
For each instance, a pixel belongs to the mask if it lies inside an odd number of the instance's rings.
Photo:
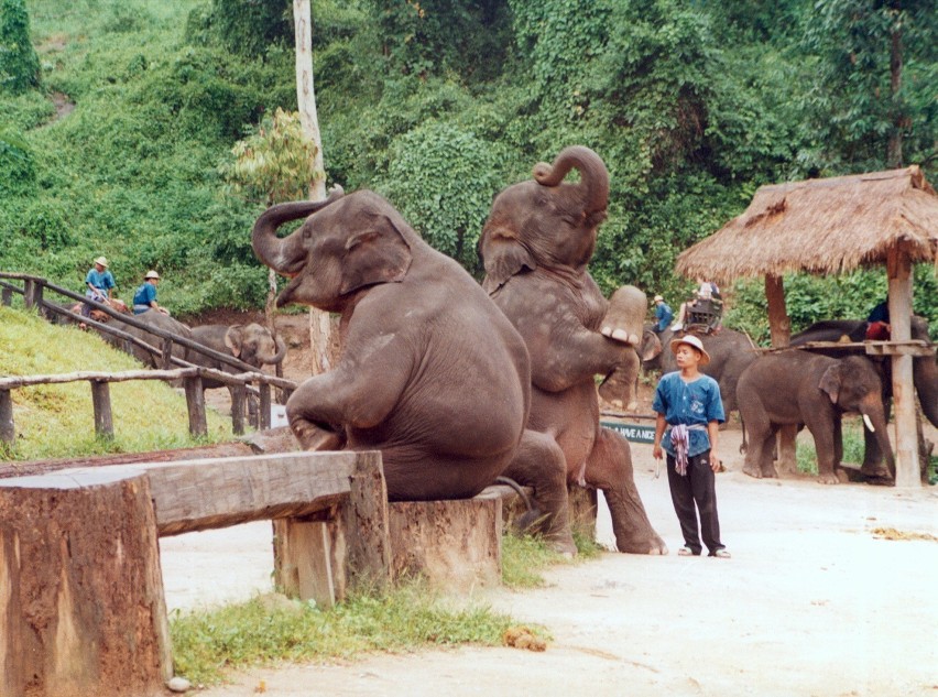
<svg viewBox="0 0 938 697">
<path fill-rule="evenodd" d="M 652 325 L 647 325 L 651 327 Z M 658 335 L 661 346 L 664 350 L 659 350 L 656 355 L 652 355 L 650 360 L 642 362 L 644 370 L 661 368 L 663 373 L 677 370 L 674 353 L 667 350 L 672 339 L 678 338 L 687 334 L 686 331 L 672 331 L 665 329 Z M 723 413 L 729 416 L 731 411 L 738 411 L 737 404 L 737 383 L 743 371 L 759 356 L 755 345 L 752 340 L 741 331 L 734 331 L 721 327 L 717 331 L 708 334 L 694 333 L 704 344 L 707 353 L 710 355 L 710 362 L 700 367 L 700 372 L 713 378 L 720 385 L 720 396 L 723 400 Z"/>
</svg>

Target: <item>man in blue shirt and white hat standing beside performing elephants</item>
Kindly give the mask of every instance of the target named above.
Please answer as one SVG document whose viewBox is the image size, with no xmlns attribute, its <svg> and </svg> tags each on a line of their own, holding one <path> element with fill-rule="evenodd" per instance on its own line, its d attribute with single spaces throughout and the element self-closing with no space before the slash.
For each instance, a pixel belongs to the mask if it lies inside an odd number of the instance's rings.
<svg viewBox="0 0 938 697">
<path fill-rule="evenodd" d="M 653 456 L 661 460 L 662 449 L 667 453 L 670 500 L 684 535 L 684 546 L 677 554 L 699 556 L 702 536 L 711 557 L 726 558 L 730 553 L 720 541 L 715 477 L 720 469 L 719 426 L 726 421 L 720 385 L 699 370 L 710 362 L 710 356 L 696 336 L 674 339 L 670 350 L 679 370 L 663 375 L 655 390 Z"/>
</svg>

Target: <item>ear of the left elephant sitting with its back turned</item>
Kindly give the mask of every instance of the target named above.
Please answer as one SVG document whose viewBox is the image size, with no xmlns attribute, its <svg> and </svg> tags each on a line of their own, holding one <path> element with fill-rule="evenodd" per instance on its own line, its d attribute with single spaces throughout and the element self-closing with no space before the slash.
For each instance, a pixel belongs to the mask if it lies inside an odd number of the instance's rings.
<svg viewBox="0 0 938 697">
<path fill-rule="evenodd" d="M 346 242 L 342 259 L 345 295 L 378 283 L 400 283 L 407 275 L 413 254 L 403 232 L 384 214 L 370 217 L 370 225 Z"/>
</svg>

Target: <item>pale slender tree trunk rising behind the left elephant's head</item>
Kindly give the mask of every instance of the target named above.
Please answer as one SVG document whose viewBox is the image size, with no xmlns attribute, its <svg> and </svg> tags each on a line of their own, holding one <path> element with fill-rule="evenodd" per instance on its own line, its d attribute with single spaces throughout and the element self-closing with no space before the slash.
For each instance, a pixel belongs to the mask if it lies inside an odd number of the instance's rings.
<svg viewBox="0 0 938 697">
<path fill-rule="evenodd" d="M 315 178 L 309 183 L 309 198 L 326 198 L 326 171 L 323 164 L 323 139 L 316 116 L 316 91 L 313 86 L 313 19 L 309 0 L 293 0 L 293 23 L 296 26 L 296 105 L 299 122 L 308 138 L 316 143 Z M 309 342 L 319 372 L 329 369 L 329 314 L 309 308 Z"/>
</svg>

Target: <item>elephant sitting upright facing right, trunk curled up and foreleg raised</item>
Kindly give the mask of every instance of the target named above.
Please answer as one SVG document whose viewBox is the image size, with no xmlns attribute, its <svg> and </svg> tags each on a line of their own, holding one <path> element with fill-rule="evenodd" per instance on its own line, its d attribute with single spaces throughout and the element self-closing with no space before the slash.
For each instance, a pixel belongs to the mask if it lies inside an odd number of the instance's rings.
<svg viewBox="0 0 938 697">
<path fill-rule="evenodd" d="M 564 183 L 570 170 L 579 183 Z M 482 287 L 531 355 L 532 428 L 563 451 L 569 483 L 600 489 L 620 552 L 667 554 L 635 488 L 629 442 L 600 427 L 595 375 L 635 352 L 634 330 L 603 297 L 587 264 L 606 219 L 609 173 L 583 146 L 564 149 L 534 181 L 498 194 L 479 240 Z M 641 333 L 639 333 L 641 336 Z"/>
</svg>

